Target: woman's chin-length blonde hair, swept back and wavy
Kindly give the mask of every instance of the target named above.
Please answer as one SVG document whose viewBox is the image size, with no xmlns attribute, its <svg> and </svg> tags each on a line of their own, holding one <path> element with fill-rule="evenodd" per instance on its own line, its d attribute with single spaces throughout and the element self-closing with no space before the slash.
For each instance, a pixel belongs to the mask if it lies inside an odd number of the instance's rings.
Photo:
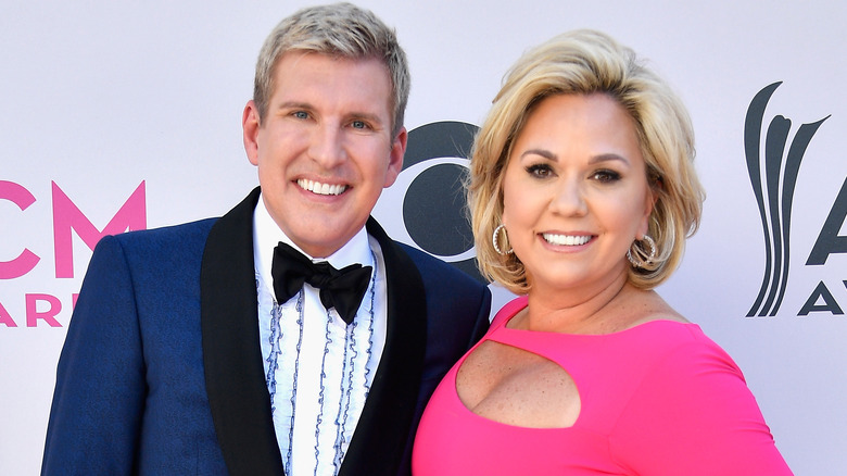
<svg viewBox="0 0 847 476">
<path fill-rule="evenodd" d="M 500 254 L 492 236 L 503 216 L 503 175 L 533 107 L 555 95 L 605 93 L 634 120 L 656 198 L 647 235 L 656 258 L 631 267 L 630 281 L 652 289 L 677 268 L 685 239 L 699 226 L 703 187 L 694 170 L 694 131 L 680 99 L 635 53 L 599 32 L 576 30 L 527 51 L 504 77 L 473 143 L 468 187 L 480 271 L 515 293 L 529 290 L 523 263 Z M 500 248 L 509 248 L 500 234 Z M 635 246 L 637 249 L 637 246 Z M 621 256 L 622 258 L 622 256 Z"/>
</svg>

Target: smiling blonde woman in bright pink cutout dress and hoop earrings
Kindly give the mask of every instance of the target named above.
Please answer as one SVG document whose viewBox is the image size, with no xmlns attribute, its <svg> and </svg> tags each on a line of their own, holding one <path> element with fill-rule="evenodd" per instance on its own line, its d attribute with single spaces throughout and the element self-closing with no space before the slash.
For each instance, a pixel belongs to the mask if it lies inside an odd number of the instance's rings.
<svg viewBox="0 0 847 476">
<path fill-rule="evenodd" d="M 608 36 L 513 66 L 469 204 L 482 272 L 521 296 L 432 396 L 416 476 L 791 474 L 732 359 L 652 290 L 699 223 L 693 158 L 682 103 Z"/>
</svg>

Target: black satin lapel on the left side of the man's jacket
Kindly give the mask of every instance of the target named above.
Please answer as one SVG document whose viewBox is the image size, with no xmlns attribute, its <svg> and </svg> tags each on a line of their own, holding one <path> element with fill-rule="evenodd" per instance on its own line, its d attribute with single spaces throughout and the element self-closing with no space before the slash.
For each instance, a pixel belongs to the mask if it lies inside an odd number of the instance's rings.
<svg viewBox="0 0 847 476">
<path fill-rule="evenodd" d="M 257 199 L 258 188 L 215 223 L 200 273 L 206 391 L 233 476 L 282 474 L 258 338 L 253 267 Z"/>
</svg>

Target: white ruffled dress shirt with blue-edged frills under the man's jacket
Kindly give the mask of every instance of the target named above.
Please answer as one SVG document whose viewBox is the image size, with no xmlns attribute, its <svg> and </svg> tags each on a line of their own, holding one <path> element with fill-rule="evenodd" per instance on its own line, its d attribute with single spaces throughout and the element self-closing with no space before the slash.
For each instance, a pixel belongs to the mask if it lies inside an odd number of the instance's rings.
<svg viewBox="0 0 847 476">
<path fill-rule="evenodd" d="M 334 475 L 385 345 L 384 260 L 379 243 L 364 228 L 326 260 L 312 260 L 329 261 L 339 270 L 353 263 L 376 270 L 356 317 L 346 325 L 334 308 L 324 308 L 318 290 L 307 284 L 288 302 L 276 302 L 270 267 L 279 241 L 302 252 L 260 197 L 253 214 L 253 260 L 262 356 L 279 451 L 289 476 Z"/>
</svg>

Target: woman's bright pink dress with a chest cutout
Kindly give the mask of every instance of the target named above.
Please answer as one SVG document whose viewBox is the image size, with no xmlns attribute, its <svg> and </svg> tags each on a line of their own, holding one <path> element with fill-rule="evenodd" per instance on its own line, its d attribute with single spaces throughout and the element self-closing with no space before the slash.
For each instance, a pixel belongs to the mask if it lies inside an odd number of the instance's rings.
<svg viewBox="0 0 847 476">
<path fill-rule="evenodd" d="M 472 413 L 456 393 L 463 358 L 423 413 L 415 476 L 792 474 L 741 369 L 697 325 L 654 321 L 607 335 L 507 328 L 526 305 L 506 304 L 482 341 L 565 368 L 580 393 L 577 422 L 524 428 Z"/>
</svg>

